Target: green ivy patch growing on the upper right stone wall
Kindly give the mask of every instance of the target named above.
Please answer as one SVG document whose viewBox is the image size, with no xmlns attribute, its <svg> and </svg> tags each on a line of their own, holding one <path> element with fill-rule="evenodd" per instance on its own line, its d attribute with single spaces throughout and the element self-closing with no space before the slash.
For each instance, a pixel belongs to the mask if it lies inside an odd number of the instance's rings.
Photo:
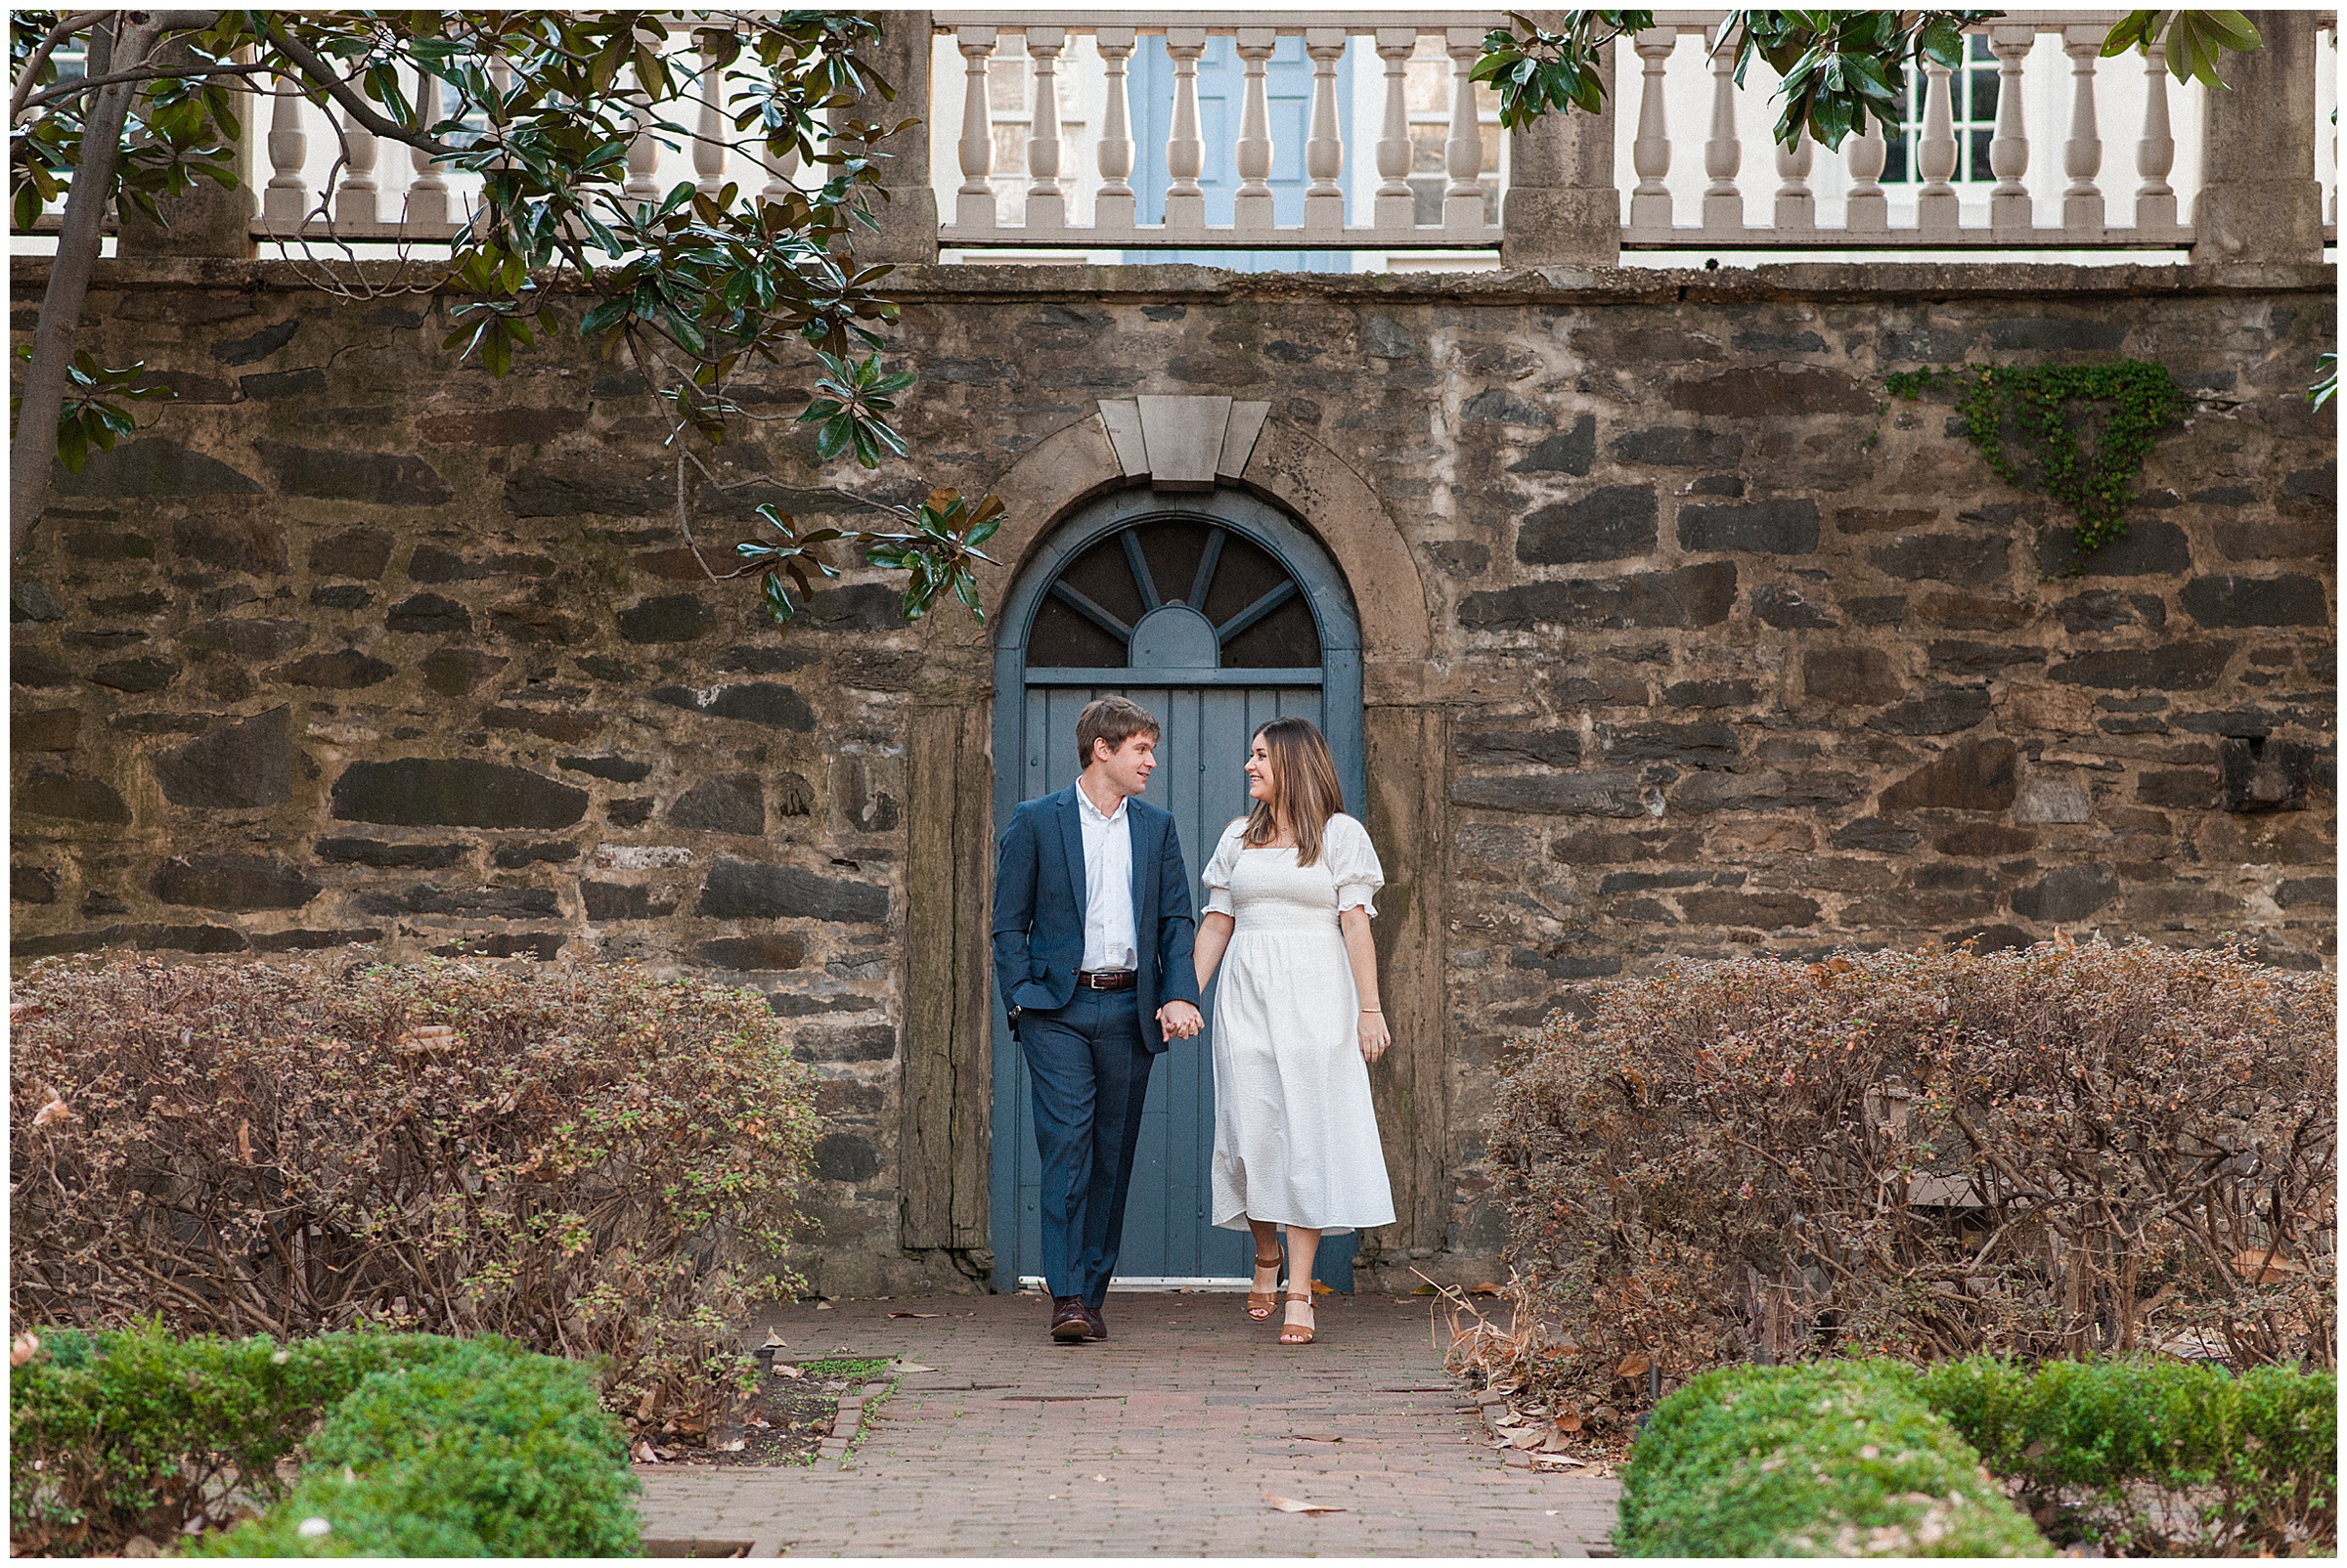
<svg viewBox="0 0 2347 1568">
<path fill-rule="evenodd" d="M 1960 364 L 1936 371 L 1892 371 L 1892 397 L 1915 401 L 1927 387 L 1955 387 L 1955 411 L 1997 479 L 2021 481 L 2021 460 L 2007 448 L 2016 432 L 2035 462 L 2044 493 L 2077 516 L 2072 559 L 2126 538 L 2126 505 L 2136 495 L 2152 441 L 2185 411 L 2183 387 L 2169 366 L 2150 359 L 2117 364 Z M 2082 439 L 2098 427 L 2091 446 Z"/>
</svg>

